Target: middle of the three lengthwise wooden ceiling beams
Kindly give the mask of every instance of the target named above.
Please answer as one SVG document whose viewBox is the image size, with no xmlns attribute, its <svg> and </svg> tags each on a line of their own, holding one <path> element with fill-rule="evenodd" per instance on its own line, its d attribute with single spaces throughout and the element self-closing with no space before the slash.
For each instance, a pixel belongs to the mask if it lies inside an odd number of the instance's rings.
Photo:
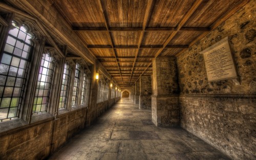
<svg viewBox="0 0 256 160">
<path fill-rule="evenodd" d="M 139 48 L 140 48 L 140 46 L 142 44 L 142 41 L 143 41 L 146 26 L 148 24 L 148 21 L 150 20 L 152 12 L 153 12 L 154 4 L 155 4 L 155 0 L 148 0 L 147 1 L 146 11 L 145 11 L 145 14 L 144 14 L 144 19 L 143 19 L 143 24 L 142 24 L 142 31 L 140 32 L 140 36 L 139 36 L 139 40 L 138 40 L 138 49 L 137 49 L 137 52 L 135 54 L 135 59 L 134 59 L 134 63 L 133 63 L 133 68 L 132 68 L 132 73 L 131 73 L 130 80 L 131 80 L 132 75 L 133 75 L 133 70 L 135 68 L 135 63 L 136 63 L 136 60 L 137 60 L 137 57 L 138 57 L 138 54 L 139 54 Z M 128 83 L 127 86 L 129 86 L 129 85 L 130 85 L 130 82 Z"/>
</svg>

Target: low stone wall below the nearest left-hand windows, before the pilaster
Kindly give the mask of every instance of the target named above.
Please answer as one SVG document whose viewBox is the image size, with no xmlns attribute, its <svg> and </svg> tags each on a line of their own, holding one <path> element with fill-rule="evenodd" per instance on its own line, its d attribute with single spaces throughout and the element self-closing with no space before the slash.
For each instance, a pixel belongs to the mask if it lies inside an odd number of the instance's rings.
<svg viewBox="0 0 256 160">
<path fill-rule="evenodd" d="M 84 127 L 86 113 L 87 108 L 77 109 L 55 120 L 48 118 L 1 132 L 1 159 L 45 159 Z"/>
</svg>

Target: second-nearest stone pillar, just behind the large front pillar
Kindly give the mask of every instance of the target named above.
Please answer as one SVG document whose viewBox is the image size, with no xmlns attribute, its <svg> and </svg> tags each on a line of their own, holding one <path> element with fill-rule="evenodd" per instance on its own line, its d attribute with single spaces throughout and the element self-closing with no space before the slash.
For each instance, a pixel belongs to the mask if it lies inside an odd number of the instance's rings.
<svg viewBox="0 0 256 160">
<path fill-rule="evenodd" d="M 150 76 L 140 77 L 140 109 L 151 109 L 152 85 Z"/>
</svg>

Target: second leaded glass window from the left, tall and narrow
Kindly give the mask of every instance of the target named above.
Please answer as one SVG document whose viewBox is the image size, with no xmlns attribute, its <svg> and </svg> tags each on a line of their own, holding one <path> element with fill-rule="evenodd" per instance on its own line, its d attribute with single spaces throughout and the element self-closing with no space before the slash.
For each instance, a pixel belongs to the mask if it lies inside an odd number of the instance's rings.
<svg viewBox="0 0 256 160">
<path fill-rule="evenodd" d="M 33 103 L 33 115 L 47 111 L 53 68 L 53 57 L 49 52 L 42 54 Z"/>
</svg>

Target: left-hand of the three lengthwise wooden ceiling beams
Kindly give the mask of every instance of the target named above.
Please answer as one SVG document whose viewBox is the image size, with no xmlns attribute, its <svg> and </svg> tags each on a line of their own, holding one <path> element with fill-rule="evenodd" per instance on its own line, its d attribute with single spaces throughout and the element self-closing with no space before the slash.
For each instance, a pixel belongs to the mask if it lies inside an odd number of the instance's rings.
<svg viewBox="0 0 256 160">
<path fill-rule="evenodd" d="M 104 8 L 102 0 L 98 0 L 98 4 L 99 4 L 99 7 L 100 7 L 100 10 L 102 11 L 103 17 L 104 17 L 104 24 L 105 24 L 106 30 L 108 31 L 107 33 L 110 37 L 110 40 L 111 40 L 111 47 L 112 47 L 112 50 L 114 52 L 115 59 L 116 59 L 116 64 L 117 64 L 117 67 L 118 67 L 118 70 L 119 70 L 119 73 L 120 73 L 120 76 L 121 76 L 121 79 L 122 79 L 122 74 L 121 74 L 120 67 L 119 67 L 118 60 L 117 60 L 117 53 L 114 49 L 114 40 L 113 40 L 113 37 L 111 36 L 111 33 L 109 31 L 110 27 L 109 27 L 109 24 L 108 24 L 108 16 L 106 15 L 106 10 Z M 123 84 L 123 86 L 124 86 L 124 84 Z"/>
</svg>

